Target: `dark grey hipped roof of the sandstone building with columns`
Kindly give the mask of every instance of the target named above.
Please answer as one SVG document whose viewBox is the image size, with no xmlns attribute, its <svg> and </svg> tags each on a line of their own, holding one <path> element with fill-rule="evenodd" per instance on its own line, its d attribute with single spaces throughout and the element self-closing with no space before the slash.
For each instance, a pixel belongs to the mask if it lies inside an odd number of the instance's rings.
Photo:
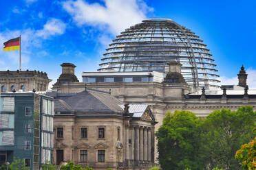
<svg viewBox="0 0 256 170">
<path fill-rule="evenodd" d="M 111 113 L 123 112 L 121 101 L 108 93 L 85 90 L 81 93 L 61 94 L 54 99 L 55 112 Z"/>
</svg>

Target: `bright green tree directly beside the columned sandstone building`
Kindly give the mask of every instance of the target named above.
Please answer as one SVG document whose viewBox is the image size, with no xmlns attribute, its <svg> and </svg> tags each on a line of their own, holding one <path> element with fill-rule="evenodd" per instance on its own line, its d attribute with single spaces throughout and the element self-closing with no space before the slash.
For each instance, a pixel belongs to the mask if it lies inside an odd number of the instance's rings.
<svg viewBox="0 0 256 170">
<path fill-rule="evenodd" d="M 168 112 L 156 136 L 162 169 L 202 169 L 200 158 L 202 119 L 193 112 Z"/>
</svg>

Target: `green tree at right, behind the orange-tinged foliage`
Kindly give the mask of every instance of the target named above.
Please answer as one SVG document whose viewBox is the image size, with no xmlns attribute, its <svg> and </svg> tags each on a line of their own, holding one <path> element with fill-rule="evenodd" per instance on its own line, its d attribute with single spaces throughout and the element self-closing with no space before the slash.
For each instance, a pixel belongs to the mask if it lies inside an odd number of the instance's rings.
<svg viewBox="0 0 256 170">
<path fill-rule="evenodd" d="M 244 106 L 237 111 L 215 110 L 204 120 L 204 138 L 202 151 L 205 164 L 211 169 L 242 169 L 241 164 L 235 159 L 235 152 L 243 143 L 248 143 L 253 138 L 256 113 L 253 107 Z"/>
</svg>

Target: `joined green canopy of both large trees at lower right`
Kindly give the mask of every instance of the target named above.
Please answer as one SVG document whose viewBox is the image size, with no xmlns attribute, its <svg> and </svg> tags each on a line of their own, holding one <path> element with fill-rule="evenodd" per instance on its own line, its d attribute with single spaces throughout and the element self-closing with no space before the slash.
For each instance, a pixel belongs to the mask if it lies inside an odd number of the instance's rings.
<svg viewBox="0 0 256 170">
<path fill-rule="evenodd" d="M 251 106 L 215 110 L 205 119 L 189 111 L 168 112 L 156 134 L 160 165 L 173 170 L 242 169 L 235 152 L 254 138 L 255 123 Z"/>
</svg>

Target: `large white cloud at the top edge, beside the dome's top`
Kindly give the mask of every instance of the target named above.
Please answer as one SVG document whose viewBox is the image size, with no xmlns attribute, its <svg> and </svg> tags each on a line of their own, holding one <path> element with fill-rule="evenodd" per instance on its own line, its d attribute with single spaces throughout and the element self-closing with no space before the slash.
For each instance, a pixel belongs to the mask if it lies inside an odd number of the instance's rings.
<svg viewBox="0 0 256 170">
<path fill-rule="evenodd" d="M 127 27 L 140 23 L 152 12 L 142 0 L 103 0 L 105 5 L 83 0 L 65 1 L 63 8 L 78 26 L 89 25 L 96 29 L 120 34 Z"/>
</svg>

